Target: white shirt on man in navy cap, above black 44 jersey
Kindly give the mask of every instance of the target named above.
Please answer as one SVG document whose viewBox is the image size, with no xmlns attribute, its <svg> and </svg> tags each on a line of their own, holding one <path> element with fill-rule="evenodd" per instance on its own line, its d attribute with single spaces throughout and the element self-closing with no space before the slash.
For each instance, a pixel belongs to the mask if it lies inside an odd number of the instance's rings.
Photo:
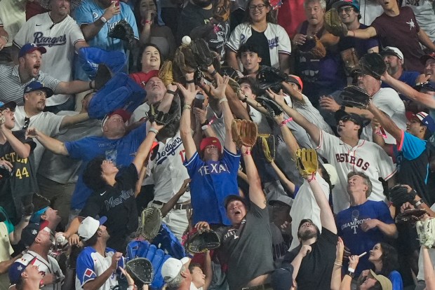
<svg viewBox="0 0 435 290">
<path fill-rule="evenodd" d="M 21 130 L 25 125 L 26 113 L 24 111 L 24 106 L 17 106 L 15 109 L 15 127 L 13 131 Z M 48 136 L 53 136 L 59 134 L 60 124 L 62 123 L 65 116 L 58 116 L 51 112 L 41 112 L 36 116 L 30 117 L 29 127 L 36 127 L 40 132 Z M 36 143 L 36 148 L 33 151 L 34 154 L 34 165 L 35 170 L 38 170 L 39 162 L 41 161 L 42 154 L 44 153 L 44 146 L 39 143 L 38 140 L 34 139 Z"/>
</svg>

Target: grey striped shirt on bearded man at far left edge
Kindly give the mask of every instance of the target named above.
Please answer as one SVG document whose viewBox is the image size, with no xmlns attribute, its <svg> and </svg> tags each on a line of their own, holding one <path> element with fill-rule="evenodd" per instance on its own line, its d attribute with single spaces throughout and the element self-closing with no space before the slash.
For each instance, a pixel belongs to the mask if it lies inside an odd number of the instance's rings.
<svg viewBox="0 0 435 290">
<path fill-rule="evenodd" d="M 55 91 L 60 83 L 58 79 L 48 76 L 48 74 L 42 71 L 39 71 L 39 75 L 36 78 L 31 78 L 27 83 L 22 83 L 18 74 L 18 65 L 13 67 L 0 65 L 0 101 L 4 103 L 15 101 L 18 106 L 23 105 L 24 100 L 22 95 L 24 95 L 24 89 L 32 81 L 39 81 L 53 91 Z"/>
</svg>

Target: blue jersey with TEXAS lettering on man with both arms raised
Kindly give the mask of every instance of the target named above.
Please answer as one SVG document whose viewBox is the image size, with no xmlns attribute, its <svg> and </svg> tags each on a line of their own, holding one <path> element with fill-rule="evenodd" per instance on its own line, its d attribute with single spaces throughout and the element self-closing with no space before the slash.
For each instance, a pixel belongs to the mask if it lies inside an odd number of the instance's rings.
<svg viewBox="0 0 435 290">
<path fill-rule="evenodd" d="M 228 195 L 239 195 L 237 172 L 240 155 L 234 155 L 224 149 L 218 161 L 203 161 L 198 152 L 185 161 L 190 181 L 190 198 L 194 214 L 193 223 L 207 221 L 230 226 L 224 207 Z"/>
</svg>

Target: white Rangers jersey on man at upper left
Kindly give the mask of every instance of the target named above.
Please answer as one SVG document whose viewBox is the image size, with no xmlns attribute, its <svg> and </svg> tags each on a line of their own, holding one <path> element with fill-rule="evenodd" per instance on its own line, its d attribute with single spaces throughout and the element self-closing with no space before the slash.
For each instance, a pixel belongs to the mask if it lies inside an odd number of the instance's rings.
<svg viewBox="0 0 435 290">
<path fill-rule="evenodd" d="M 21 48 L 26 43 L 44 46 L 47 52 L 41 62 L 41 70 L 47 71 L 60 81 L 72 81 L 75 44 L 85 41 L 79 25 L 69 15 L 62 22 L 53 24 L 49 12 L 35 15 L 22 25 L 13 43 Z M 71 95 L 53 95 L 47 99 L 47 106 L 67 102 Z"/>
</svg>

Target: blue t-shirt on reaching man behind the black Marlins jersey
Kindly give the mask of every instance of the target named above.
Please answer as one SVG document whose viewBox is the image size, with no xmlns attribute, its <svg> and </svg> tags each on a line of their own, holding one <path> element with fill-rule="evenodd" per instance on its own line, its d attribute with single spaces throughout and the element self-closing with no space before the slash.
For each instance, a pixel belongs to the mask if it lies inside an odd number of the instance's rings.
<svg viewBox="0 0 435 290">
<path fill-rule="evenodd" d="M 79 179 L 72 194 L 71 208 L 83 209 L 92 190 L 83 183 L 83 170 L 88 162 L 98 156 L 105 156 L 122 171 L 133 162 L 134 154 L 146 137 L 146 123 L 119 139 L 106 137 L 86 137 L 77 141 L 65 142 L 65 148 L 71 158 L 83 161 L 80 167 Z M 119 174 L 118 173 L 118 174 Z"/>
</svg>

